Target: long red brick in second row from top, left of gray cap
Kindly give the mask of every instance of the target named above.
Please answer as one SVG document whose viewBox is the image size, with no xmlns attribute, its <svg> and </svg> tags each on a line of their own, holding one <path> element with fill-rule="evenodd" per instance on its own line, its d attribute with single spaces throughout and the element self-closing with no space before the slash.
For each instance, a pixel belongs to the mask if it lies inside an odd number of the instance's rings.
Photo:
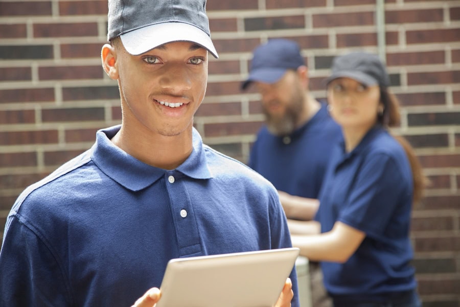
<svg viewBox="0 0 460 307">
<path fill-rule="evenodd" d="M 35 24 L 34 37 L 98 36 L 97 23 Z"/>
</svg>

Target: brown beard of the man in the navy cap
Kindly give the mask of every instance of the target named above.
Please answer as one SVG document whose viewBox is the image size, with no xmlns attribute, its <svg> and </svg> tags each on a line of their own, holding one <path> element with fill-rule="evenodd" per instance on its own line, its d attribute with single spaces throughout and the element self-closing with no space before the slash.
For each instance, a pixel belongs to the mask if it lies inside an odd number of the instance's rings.
<svg viewBox="0 0 460 307">
<path fill-rule="evenodd" d="M 267 129 L 270 133 L 276 136 L 290 135 L 297 128 L 304 112 L 304 96 L 302 90 L 300 87 L 295 87 L 283 114 L 270 114 L 266 108 L 263 108 L 263 112 Z"/>
</svg>

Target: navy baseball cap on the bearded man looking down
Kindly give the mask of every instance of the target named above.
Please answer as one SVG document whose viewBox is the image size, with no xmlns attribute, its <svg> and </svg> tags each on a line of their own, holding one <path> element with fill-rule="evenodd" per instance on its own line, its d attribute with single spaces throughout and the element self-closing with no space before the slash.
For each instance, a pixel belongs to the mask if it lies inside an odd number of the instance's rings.
<svg viewBox="0 0 460 307">
<path fill-rule="evenodd" d="M 253 81 L 277 82 L 288 69 L 296 70 L 302 65 L 305 65 L 305 61 L 295 41 L 270 39 L 254 50 L 249 77 L 241 84 L 241 89 L 245 90 Z"/>
</svg>

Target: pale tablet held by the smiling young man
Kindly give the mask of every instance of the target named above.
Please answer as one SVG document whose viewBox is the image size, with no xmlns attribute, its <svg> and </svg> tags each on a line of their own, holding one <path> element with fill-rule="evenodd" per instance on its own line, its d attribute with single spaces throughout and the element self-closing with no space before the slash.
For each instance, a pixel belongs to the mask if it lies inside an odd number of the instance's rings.
<svg viewBox="0 0 460 307">
<path fill-rule="evenodd" d="M 272 307 L 298 248 L 171 259 L 157 307 Z"/>
</svg>

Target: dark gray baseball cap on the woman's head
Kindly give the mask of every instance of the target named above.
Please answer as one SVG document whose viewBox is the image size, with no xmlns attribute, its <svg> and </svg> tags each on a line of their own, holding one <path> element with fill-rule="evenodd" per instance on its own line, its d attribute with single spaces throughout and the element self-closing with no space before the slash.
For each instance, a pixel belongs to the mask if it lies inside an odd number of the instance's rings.
<svg viewBox="0 0 460 307">
<path fill-rule="evenodd" d="M 389 86 L 385 65 L 376 54 L 353 52 L 337 56 L 332 61 L 331 71 L 331 75 L 325 80 L 326 84 L 334 79 L 347 77 L 367 86 Z"/>
</svg>

